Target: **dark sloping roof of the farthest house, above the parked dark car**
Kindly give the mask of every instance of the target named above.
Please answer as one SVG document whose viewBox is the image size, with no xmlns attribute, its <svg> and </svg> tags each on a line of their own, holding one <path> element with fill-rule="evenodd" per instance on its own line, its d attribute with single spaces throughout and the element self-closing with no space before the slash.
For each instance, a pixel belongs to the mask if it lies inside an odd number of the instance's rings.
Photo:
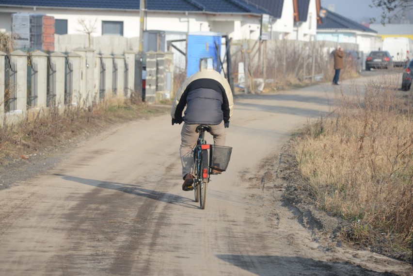
<svg viewBox="0 0 413 276">
<path fill-rule="evenodd" d="M 331 30 L 331 29 L 340 29 L 340 30 L 357 30 L 363 32 L 375 32 L 376 31 L 357 23 L 349 18 L 340 16 L 332 11 L 327 11 L 326 16 L 323 18 L 323 23 L 317 26 L 318 30 Z"/>
</svg>

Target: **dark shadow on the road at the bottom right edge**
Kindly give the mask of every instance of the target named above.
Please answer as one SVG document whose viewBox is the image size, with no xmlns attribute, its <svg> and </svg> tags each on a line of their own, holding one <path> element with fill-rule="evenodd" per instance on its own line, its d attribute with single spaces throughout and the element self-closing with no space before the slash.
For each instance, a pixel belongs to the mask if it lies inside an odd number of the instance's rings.
<svg viewBox="0 0 413 276">
<path fill-rule="evenodd" d="M 216 255 L 219 259 L 259 276 L 397 276 L 377 272 L 348 262 L 321 261 L 302 257 Z"/>
</svg>

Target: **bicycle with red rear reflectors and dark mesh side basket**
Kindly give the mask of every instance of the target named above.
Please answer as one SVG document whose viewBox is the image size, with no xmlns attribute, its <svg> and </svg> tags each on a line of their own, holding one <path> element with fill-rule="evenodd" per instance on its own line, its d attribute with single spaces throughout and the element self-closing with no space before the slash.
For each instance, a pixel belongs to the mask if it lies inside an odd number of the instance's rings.
<svg viewBox="0 0 413 276">
<path fill-rule="evenodd" d="M 213 172 L 221 173 L 226 170 L 232 147 L 206 144 L 205 132 L 210 132 L 210 128 L 206 125 L 199 125 L 195 131 L 199 132 L 199 136 L 193 148 L 193 190 L 195 202 L 199 202 L 201 209 L 205 209 L 210 175 L 217 174 Z"/>
</svg>

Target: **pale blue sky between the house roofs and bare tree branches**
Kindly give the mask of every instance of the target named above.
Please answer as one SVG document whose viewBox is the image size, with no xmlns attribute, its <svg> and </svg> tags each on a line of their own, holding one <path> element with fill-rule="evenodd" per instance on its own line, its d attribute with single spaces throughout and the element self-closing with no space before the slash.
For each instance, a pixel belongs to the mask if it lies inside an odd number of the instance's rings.
<svg viewBox="0 0 413 276">
<path fill-rule="evenodd" d="M 371 8 L 372 0 L 321 0 L 321 6 L 328 8 L 334 5 L 334 12 L 358 23 L 369 23 L 371 17 L 376 17 L 376 23 L 381 20 L 381 8 Z"/>
</svg>

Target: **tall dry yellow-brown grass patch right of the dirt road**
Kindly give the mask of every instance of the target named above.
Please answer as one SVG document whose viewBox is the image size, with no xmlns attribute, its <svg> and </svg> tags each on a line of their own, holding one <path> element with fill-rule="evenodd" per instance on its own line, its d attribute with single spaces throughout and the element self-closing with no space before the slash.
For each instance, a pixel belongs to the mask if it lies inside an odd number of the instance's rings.
<svg viewBox="0 0 413 276">
<path fill-rule="evenodd" d="M 349 239 L 363 243 L 380 231 L 409 248 L 413 113 L 401 108 L 392 87 L 383 79 L 370 81 L 364 97 L 357 91 L 338 95 L 331 116 L 306 126 L 295 154 L 308 183 L 302 188 L 318 208 L 355 222 Z"/>
</svg>

